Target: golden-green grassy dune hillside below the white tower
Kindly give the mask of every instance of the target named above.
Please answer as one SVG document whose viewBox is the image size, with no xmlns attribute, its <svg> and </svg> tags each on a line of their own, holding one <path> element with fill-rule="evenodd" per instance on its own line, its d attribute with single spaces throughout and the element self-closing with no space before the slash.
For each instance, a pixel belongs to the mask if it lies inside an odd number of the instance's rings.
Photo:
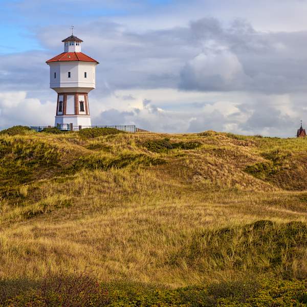
<svg viewBox="0 0 307 307">
<path fill-rule="evenodd" d="M 307 139 L 52 132 L 0 134 L 0 305 L 80 272 L 101 305 L 304 304 Z"/>
</svg>

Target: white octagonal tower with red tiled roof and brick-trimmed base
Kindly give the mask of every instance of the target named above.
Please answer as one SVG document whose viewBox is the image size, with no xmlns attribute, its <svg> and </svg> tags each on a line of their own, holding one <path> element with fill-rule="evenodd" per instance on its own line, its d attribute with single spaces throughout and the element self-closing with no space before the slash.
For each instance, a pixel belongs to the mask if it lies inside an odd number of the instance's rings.
<svg viewBox="0 0 307 307">
<path fill-rule="evenodd" d="M 55 126 L 91 126 L 87 94 L 95 89 L 98 61 L 81 52 L 83 40 L 73 34 L 62 40 L 64 52 L 48 60 L 50 87 L 58 93 Z"/>
</svg>

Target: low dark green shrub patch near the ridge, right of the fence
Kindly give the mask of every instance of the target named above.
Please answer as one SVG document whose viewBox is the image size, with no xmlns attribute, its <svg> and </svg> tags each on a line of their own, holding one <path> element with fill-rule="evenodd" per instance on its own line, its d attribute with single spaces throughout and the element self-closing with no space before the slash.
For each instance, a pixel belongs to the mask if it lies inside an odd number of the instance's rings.
<svg viewBox="0 0 307 307">
<path fill-rule="evenodd" d="M 200 142 L 170 142 L 168 138 L 161 140 L 149 140 L 141 143 L 141 146 L 146 147 L 152 152 L 167 152 L 170 149 L 196 149 L 200 147 L 202 143 Z"/>
</svg>

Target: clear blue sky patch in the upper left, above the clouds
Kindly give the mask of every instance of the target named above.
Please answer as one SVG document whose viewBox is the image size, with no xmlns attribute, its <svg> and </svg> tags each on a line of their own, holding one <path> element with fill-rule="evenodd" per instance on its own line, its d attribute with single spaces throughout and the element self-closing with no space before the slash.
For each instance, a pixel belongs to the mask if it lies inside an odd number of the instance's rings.
<svg viewBox="0 0 307 307">
<path fill-rule="evenodd" d="M 93 3 L 94 5 L 86 1 L 0 1 L 0 53 L 44 49 L 35 37 L 35 29 L 52 27 L 55 23 L 63 24 L 63 19 L 64 24 L 68 26 L 78 24 L 76 18 L 91 20 L 97 17 L 144 14 L 148 10 L 169 6 L 173 1 L 130 1 L 128 5 L 103 1 Z"/>
</svg>

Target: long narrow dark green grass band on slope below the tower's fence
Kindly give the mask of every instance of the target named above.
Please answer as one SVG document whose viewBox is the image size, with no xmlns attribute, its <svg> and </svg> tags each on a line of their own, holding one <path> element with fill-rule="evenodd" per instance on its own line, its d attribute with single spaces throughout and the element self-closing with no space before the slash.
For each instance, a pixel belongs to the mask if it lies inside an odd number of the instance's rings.
<svg viewBox="0 0 307 307">
<path fill-rule="evenodd" d="M 136 166 L 150 166 L 166 163 L 163 159 L 152 158 L 144 154 L 135 153 L 123 153 L 118 157 L 107 157 L 90 155 L 79 158 L 74 164 L 75 169 L 87 168 L 87 169 L 102 169 L 107 170 L 109 168 L 124 168 L 124 167 L 136 167 Z"/>
</svg>

